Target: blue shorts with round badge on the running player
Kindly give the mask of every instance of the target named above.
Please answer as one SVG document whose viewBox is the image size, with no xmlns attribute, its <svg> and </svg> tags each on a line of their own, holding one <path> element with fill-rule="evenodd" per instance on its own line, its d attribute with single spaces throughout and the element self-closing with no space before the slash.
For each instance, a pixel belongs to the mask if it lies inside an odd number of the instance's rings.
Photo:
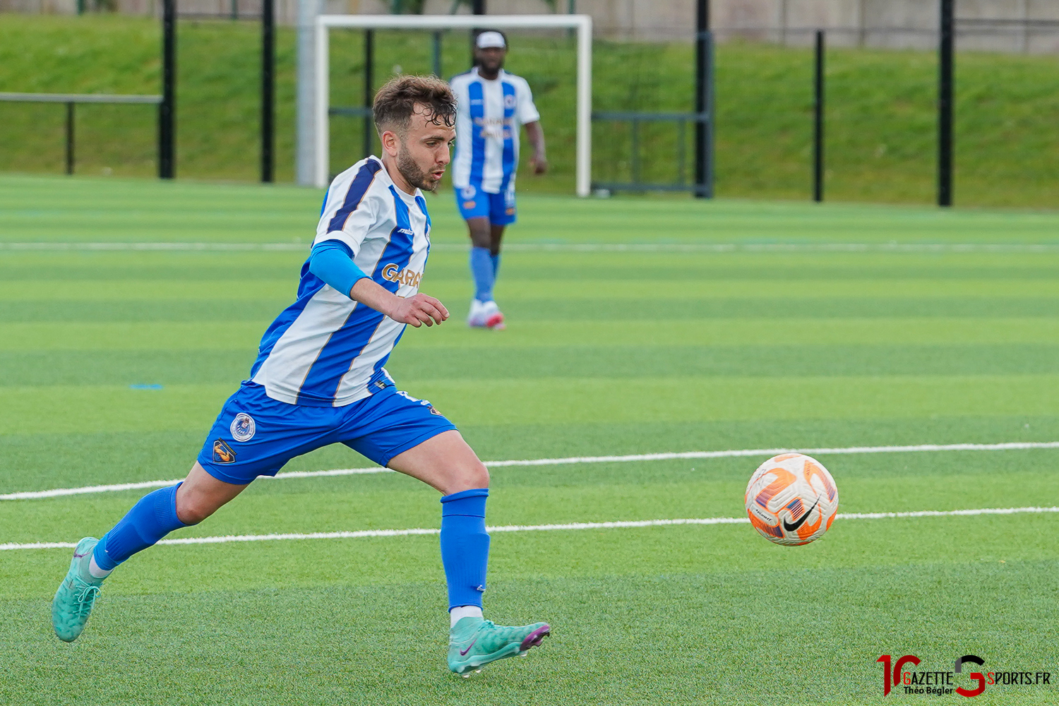
<svg viewBox="0 0 1059 706">
<path fill-rule="evenodd" d="M 330 443 L 344 443 L 379 466 L 443 432 L 455 429 L 427 400 L 391 383 L 345 406 L 288 404 L 244 382 L 228 398 L 198 463 L 210 475 L 235 485 L 275 475 L 284 464 Z"/>
</svg>

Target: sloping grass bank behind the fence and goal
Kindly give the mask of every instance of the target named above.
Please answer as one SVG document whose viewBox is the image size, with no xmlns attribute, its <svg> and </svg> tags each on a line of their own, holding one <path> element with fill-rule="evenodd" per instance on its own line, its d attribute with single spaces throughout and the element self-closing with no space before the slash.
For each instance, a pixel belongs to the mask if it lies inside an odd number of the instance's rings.
<svg viewBox="0 0 1059 706">
<path fill-rule="evenodd" d="M 253 21 L 182 20 L 178 36 L 178 176 L 253 180 L 257 175 L 258 26 Z M 335 32 L 333 105 L 362 94 L 362 38 Z M 569 193 L 573 184 L 573 43 L 516 34 L 508 68 L 536 91 L 553 173 L 524 178 L 526 191 Z M 379 33 L 376 82 L 394 70 L 427 72 L 421 34 Z M 277 178 L 293 175 L 294 35 L 277 40 Z M 466 66 L 462 34 L 446 35 L 446 75 Z M 717 193 L 808 198 L 811 52 L 758 44 L 717 49 Z M 597 110 L 688 110 L 693 48 L 598 41 Z M 831 50 L 828 54 L 827 197 L 930 202 L 935 166 L 936 61 L 929 52 Z M 159 29 L 121 16 L 0 16 L 0 90 L 156 93 Z M 956 89 L 956 200 L 973 205 L 1059 205 L 1059 59 L 961 54 Z M 62 110 L 0 104 L 0 170 L 62 168 Z M 333 121 L 333 165 L 361 157 L 361 122 Z M 146 106 L 78 108 L 77 169 L 151 176 L 154 111 Z M 690 134 L 688 134 L 688 139 Z M 677 177 L 676 130 L 645 125 L 642 176 Z M 627 126 L 594 130 L 594 174 L 629 177 Z M 690 143 L 688 142 L 688 145 Z M 689 173 L 687 165 L 685 173 Z"/>
</svg>

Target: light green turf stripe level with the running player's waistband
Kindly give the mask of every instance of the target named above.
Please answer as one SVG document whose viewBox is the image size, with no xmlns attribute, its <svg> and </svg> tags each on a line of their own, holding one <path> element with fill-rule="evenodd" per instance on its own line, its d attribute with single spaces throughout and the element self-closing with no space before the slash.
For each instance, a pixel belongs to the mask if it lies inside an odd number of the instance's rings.
<svg viewBox="0 0 1059 706">
<path fill-rule="evenodd" d="M 403 380 L 457 424 L 1059 415 L 1059 375 Z M 4 434 L 205 430 L 230 385 L 4 387 Z"/>
</svg>

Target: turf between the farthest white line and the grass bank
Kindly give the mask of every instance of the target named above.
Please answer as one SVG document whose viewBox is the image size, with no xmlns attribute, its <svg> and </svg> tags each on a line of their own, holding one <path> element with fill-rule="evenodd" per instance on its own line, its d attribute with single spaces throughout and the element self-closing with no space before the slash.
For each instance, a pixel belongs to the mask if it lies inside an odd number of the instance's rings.
<svg viewBox="0 0 1059 706">
<path fill-rule="evenodd" d="M 320 189 L 77 177 L 0 177 L 0 238 L 289 241 L 310 237 Z M 149 204 L 149 207 L 145 207 Z M 462 242 L 450 192 L 428 199 L 435 240 Z M 694 199 L 519 195 L 520 238 L 559 242 L 1055 242 L 1059 214 Z"/>
</svg>

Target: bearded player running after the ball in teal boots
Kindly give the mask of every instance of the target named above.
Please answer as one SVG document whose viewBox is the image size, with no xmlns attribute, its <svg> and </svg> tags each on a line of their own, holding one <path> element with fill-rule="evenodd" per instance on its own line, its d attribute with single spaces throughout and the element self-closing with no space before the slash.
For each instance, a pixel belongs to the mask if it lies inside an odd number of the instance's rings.
<svg viewBox="0 0 1059 706">
<path fill-rule="evenodd" d="M 442 493 L 449 669 L 468 676 L 549 634 L 544 622 L 483 618 L 489 473 L 452 422 L 397 391 L 383 367 L 407 325 L 449 316 L 418 291 L 430 250 L 420 189 L 437 188 L 449 163 L 455 98 L 439 78 L 395 77 L 376 94 L 374 117 L 382 159 L 331 182 L 298 300 L 265 331 L 250 379 L 225 403 L 187 477 L 145 495 L 103 539 L 77 543 L 52 601 L 59 638 L 77 638 L 103 581 L 130 556 L 202 522 L 256 476 L 337 442 Z"/>
</svg>

